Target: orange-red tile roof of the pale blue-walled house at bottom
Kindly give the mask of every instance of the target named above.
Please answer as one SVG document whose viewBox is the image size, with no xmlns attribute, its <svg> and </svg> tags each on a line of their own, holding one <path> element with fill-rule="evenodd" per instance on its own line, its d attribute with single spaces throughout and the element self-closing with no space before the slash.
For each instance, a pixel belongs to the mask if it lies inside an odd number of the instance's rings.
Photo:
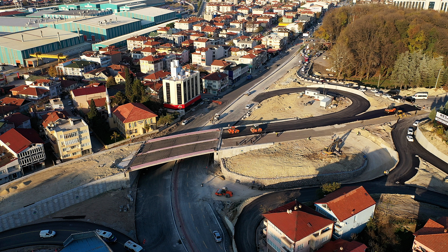
<svg viewBox="0 0 448 252">
<path fill-rule="evenodd" d="M 376 202 L 362 186 L 346 186 L 327 194 L 314 204 L 327 204 L 338 220 L 344 221 L 354 214 L 375 205 Z"/>
</svg>

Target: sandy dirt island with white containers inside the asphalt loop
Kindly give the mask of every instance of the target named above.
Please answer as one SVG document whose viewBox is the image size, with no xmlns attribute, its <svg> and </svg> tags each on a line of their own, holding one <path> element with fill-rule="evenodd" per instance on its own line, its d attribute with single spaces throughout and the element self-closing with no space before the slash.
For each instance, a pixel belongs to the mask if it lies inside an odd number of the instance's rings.
<svg viewBox="0 0 448 252">
<path fill-rule="evenodd" d="M 311 102 L 307 106 L 304 103 Z M 326 115 L 341 111 L 351 105 L 352 102 L 345 98 L 337 103 L 337 107 L 325 109 L 320 107 L 320 102 L 305 95 L 282 94 L 271 97 L 254 107 L 249 117 L 241 120 L 241 124 L 255 124 L 271 120 L 289 118 L 306 118 L 312 116 Z"/>
</svg>

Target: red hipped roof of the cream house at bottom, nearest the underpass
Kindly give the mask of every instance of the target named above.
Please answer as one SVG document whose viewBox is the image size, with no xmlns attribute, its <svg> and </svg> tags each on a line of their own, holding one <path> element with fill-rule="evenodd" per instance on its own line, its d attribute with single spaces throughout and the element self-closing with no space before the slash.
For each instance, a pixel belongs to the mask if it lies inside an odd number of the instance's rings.
<svg viewBox="0 0 448 252">
<path fill-rule="evenodd" d="M 290 214 L 288 210 L 291 210 Z M 264 213 L 263 216 L 294 242 L 334 223 L 298 201 L 272 209 Z"/>
</svg>

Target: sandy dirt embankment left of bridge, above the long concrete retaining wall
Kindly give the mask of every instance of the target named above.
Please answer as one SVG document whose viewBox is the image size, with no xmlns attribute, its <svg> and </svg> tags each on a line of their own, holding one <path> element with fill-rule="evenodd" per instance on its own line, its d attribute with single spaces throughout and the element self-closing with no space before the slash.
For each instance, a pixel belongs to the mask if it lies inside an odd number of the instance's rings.
<svg viewBox="0 0 448 252">
<path fill-rule="evenodd" d="M 115 164 L 137 151 L 139 146 L 121 146 L 91 154 L 4 184 L 0 187 L 0 215 L 121 172 L 123 170 L 116 168 Z"/>
</svg>

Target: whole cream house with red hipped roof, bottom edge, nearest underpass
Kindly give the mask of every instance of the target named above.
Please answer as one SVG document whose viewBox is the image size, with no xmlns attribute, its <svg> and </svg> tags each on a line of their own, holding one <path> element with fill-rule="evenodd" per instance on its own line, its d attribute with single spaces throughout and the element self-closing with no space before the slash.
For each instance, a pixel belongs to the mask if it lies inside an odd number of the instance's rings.
<svg viewBox="0 0 448 252">
<path fill-rule="evenodd" d="M 263 216 L 268 251 L 314 251 L 332 238 L 334 221 L 298 201 Z"/>
</svg>

